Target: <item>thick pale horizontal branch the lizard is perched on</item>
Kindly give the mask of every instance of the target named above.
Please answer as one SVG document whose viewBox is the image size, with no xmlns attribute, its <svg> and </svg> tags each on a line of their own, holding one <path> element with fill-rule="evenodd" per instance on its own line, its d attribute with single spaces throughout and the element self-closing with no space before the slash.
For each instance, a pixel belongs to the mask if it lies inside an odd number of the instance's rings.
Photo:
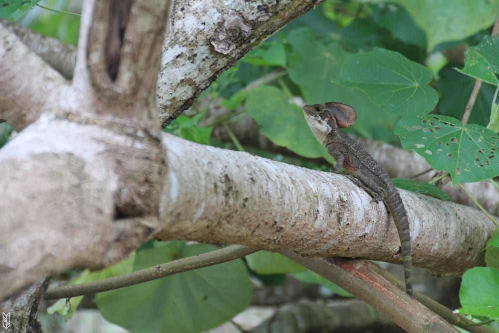
<svg viewBox="0 0 499 333">
<path fill-rule="evenodd" d="M 170 135 L 165 140 L 165 229 L 158 237 L 400 262 L 386 207 L 346 177 Z M 415 266 L 459 275 L 483 263 L 481 250 L 495 228 L 481 212 L 407 191 L 401 196 L 413 231 Z"/>
</svg>

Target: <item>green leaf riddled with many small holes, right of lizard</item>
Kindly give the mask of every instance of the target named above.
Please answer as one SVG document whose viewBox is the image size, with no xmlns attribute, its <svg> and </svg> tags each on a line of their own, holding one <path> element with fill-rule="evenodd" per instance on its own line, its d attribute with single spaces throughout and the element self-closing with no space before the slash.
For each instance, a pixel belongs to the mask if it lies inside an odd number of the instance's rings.
<svg viewBox="0 0 499 333">
<path fill-rule="evenodd" d="M 499 175 L 499 137 L 480 125 L 463 126 L 456 118 L 440 115 L 414 116 L 401 119 L 395 134 L 404 149 L 448 171 L 453 185 Z"/>
</svg>

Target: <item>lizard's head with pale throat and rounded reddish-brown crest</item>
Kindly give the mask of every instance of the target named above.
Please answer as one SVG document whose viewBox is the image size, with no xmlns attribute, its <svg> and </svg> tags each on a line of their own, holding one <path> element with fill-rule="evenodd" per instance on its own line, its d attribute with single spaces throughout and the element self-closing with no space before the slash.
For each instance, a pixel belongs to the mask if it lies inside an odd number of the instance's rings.
<svg viewBox="0 0 499 333">
<path fill-rule="evenodd" d="M 338 127 L 349 127 L 357 120 L 357 113 L 350 105 L 336 102 L 303 106 L 308 126 L 320 143 Z"/>
</svg>

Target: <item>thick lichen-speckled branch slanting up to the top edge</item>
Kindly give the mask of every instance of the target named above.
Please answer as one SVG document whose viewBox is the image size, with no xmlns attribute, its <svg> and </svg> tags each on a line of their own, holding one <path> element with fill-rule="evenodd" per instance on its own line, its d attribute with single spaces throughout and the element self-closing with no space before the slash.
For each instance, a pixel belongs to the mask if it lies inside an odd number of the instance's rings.
<svg viewBox="0 0 499 333">
<path fill-rule="evenodd" d="M 158 77 L 163 127 L 254 46 L 320 2 L 175 1 Z"/>
</svg>

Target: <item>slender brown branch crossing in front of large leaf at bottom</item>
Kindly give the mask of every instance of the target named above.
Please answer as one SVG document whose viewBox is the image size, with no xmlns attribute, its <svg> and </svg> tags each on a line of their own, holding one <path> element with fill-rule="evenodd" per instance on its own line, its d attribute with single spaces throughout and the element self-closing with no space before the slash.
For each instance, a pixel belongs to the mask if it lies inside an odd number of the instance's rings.
<svg viewBox="0 0 499 333">
<path fill-rule="evenodd" d="M 140 271 L 120 275 L 80 285 L 68 285 L 49 289 L 44 299 L 52 300 L 59 298 L 71 298 L 75 296 L 88 295 L 105 292 L 108 290 L 137 285 L 139 283 L 161 279 L 176 273 L 192 271 L 198 268 L 225 263 L 249 255 L 258 249 L 243 245 L 231 245 L 223 249 L 203 253 L 179 260 L 174 260 L 165 264 L 156 265 Z"/>
</svg>

